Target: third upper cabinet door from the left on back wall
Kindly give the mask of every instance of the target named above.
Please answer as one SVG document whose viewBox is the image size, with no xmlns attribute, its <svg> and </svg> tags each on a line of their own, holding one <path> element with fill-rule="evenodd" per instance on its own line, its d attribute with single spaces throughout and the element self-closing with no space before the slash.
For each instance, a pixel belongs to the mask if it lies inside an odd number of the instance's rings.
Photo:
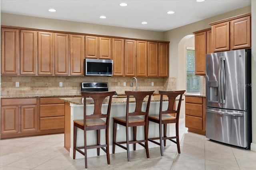
<svg viewBox="0 0 256 170">
<path fill-rule="evenodd" d="M 38 32 L 38 74 L 52 75 L 53 40 L 50 32 Z"/>
</svg>

